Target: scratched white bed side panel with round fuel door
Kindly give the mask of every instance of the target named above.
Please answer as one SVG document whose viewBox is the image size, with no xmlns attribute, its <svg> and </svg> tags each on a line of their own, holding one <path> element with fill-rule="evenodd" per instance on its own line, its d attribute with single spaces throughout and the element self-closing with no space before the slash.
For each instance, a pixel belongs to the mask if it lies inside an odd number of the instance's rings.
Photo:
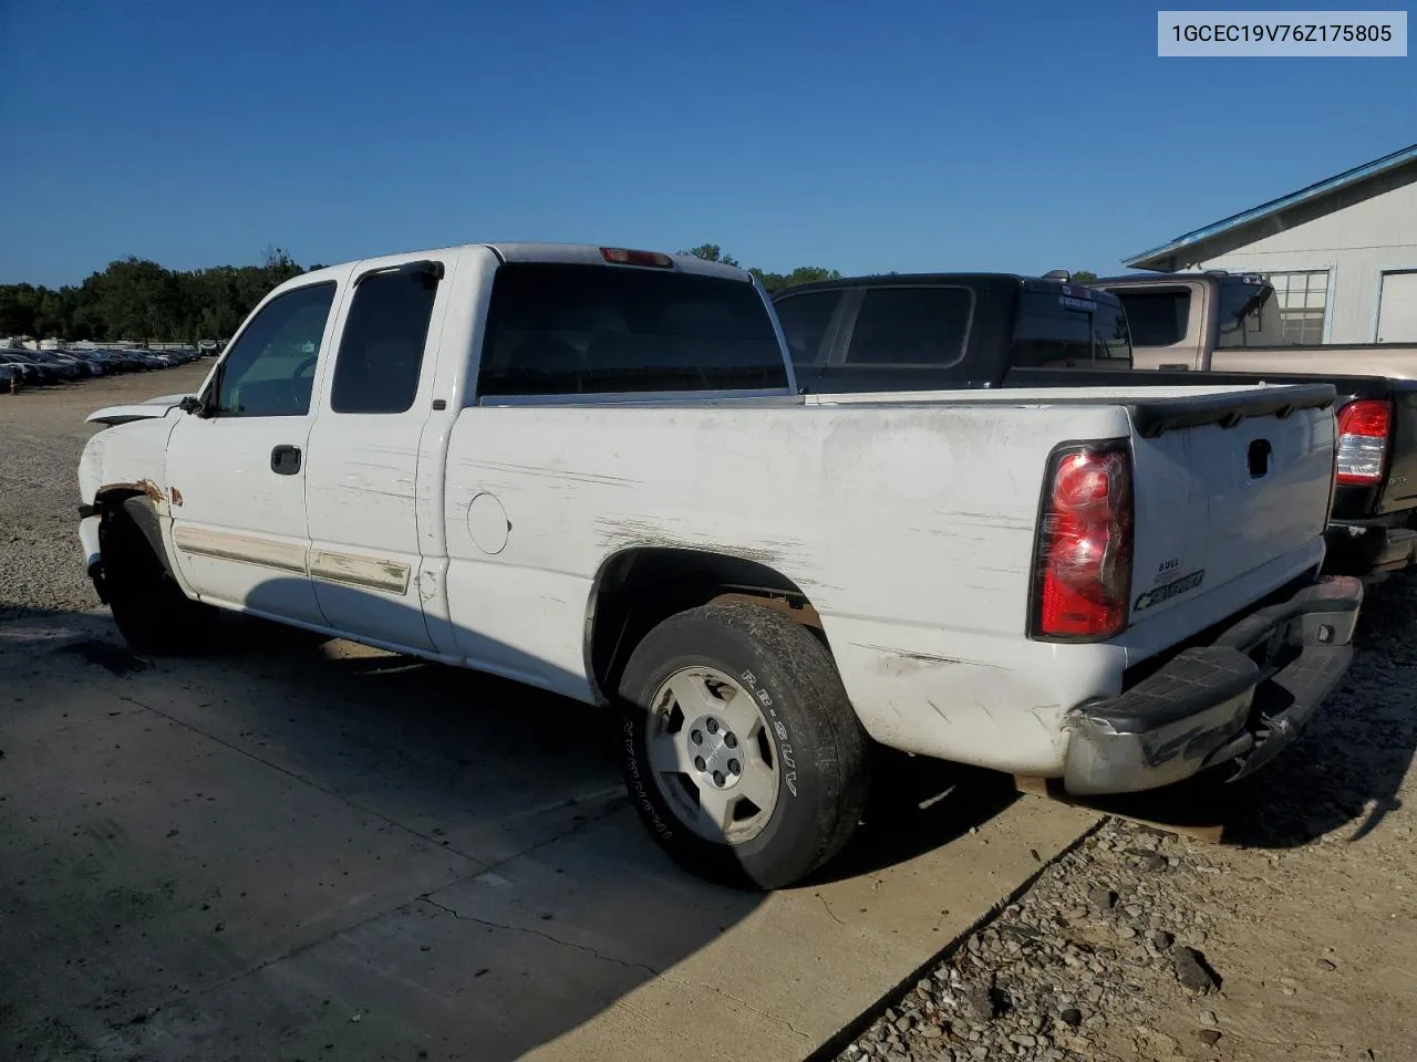
<svg viewBox="0 0 1417 1062">
<path fill-rule="evenodd" d="M 927 687 L 959 719 L 1061 711 L 1112 691 L 1097 687 L 1102 668 L 1073 654 L 1060 675 L 1056 647 L 1023 637 L 1043 470 L 1060 438 L 1127 430 L 1107 405 L 466 409 L 445 503 L 459 651 L 588 698 L 597 573 L 619 551 L 673 547 L 792 579 L 877 736 L 941 729 Z M 1039 667 L 1019 667 L 1020 654 Z M 914 712 L 932 722 L 900 718 Z M 1020 756 L 1057 756 L 1044 726 L 1037 741 Z"/>
</svg>

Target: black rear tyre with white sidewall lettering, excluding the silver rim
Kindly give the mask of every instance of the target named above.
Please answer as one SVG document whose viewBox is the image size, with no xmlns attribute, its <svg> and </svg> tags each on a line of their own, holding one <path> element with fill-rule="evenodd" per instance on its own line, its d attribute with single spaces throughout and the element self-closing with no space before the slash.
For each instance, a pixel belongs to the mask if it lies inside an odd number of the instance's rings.
<svg viewBox="0 0 1417 1062">
<path fill-rule="evenodd" d="M 677 782 L 687 792 L 693 782 L 686 779 L 693 776 L 657 773 L 650 763 L 657 721 L 670 718 L 660 714 L 656 700 L 666 695 L 672 677 L 696 667 L 731 677 L 738 684 L 731 697 L 751 694 L 748 702 L 764 724 L 752 741 L 761 742 L 765 732 L 777 765 L 771 813 L 760 831 L 741 843 L 700 835 L 684 817 L 683 803 L 676 810 L 677 801 L 663 789 Z M 677 698 L 669 697 L 679 711 Z M 860 821 L 870 739 L 830 654 L 806 627 L 774 609 L 706 605 L 662 622 L 631 654 L 619 683 L 619 707 L 621 759 L 631 800 L 655 840 L 701 878 L 785 888 L 836 855 Z M 680 731 L 687 726 L 682 722 Z M 700 777 L 707 782 L 707 776 Z"/>
</svg>

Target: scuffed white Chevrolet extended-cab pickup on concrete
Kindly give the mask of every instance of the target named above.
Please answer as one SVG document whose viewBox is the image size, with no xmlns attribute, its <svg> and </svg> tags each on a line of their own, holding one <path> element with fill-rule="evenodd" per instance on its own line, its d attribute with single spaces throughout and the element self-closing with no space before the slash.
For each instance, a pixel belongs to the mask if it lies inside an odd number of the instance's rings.
<svg viewBox="0 0 1417 1062">
<path fill-rule="evenodd" d="M 215 606 L 614 707 L 659 843 L 778 888 L 873 741 L 1115 793 L 1297 736 L 1362 602 L 1332 401 L 802 396 L 748 273 L 470 245 L 295 278 L 198 394 L 94 413 L 79 538 L 137 653 Z"/>
</svg>

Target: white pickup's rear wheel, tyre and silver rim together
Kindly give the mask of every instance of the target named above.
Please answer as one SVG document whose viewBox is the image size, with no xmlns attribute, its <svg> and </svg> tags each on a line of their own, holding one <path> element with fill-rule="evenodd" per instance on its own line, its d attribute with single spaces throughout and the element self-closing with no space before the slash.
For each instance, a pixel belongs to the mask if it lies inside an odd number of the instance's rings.
<svg viewBox="0 0 1417 1062">
<path fill-rule="evenodd" d="M 669 617 L 631 654 L 619 700 L 631 799 L 686 869 L 785 888 L 856 830 L 869 739 L 830 654 L 779 612 Z"/>
</svg>

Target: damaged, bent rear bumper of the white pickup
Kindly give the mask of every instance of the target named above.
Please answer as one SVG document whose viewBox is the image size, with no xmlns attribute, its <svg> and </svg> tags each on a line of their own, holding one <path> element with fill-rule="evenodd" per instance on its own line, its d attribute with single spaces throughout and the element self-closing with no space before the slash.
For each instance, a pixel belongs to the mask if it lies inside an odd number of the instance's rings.
<svg viewBox="0 0 1417 1062">
<path fill-rule="evenodd" d="M 1253 612 L 1119 697 L 1067 716 L 1063 786 L 1131 793 L 1234 762 L 1230 780 L 1294 742 L 1348 670 L 1363 585 L 1339 576 Z"/>
</svg>

